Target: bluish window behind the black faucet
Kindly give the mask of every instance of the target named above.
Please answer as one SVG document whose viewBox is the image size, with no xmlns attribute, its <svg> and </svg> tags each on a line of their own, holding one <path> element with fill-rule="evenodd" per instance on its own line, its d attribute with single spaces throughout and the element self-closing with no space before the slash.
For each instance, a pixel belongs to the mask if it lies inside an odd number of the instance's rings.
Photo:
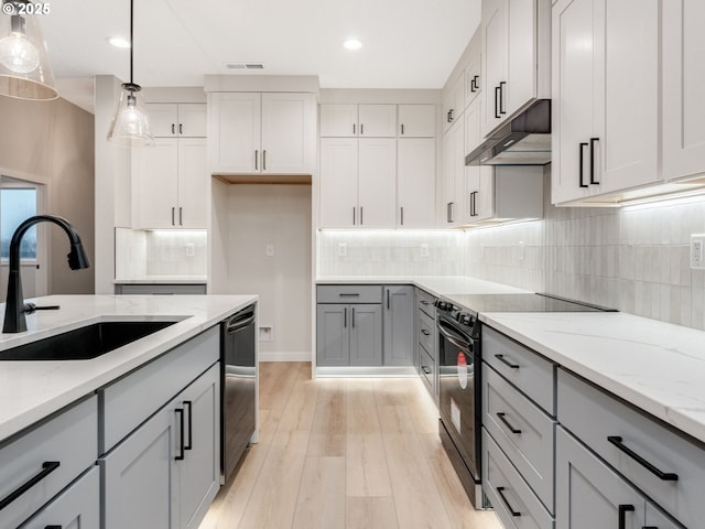
<svg viewBox="0 0 705 529">
<path fill-rule="evenodd" d="M 0 188 L 0 257 L 10 257 L 10 239 L 17 227 L 36 215 L 36 188 Z M 29 229 L 20 246 L 20 257 L 36 259 L 36 226 Z"/>
</svg>

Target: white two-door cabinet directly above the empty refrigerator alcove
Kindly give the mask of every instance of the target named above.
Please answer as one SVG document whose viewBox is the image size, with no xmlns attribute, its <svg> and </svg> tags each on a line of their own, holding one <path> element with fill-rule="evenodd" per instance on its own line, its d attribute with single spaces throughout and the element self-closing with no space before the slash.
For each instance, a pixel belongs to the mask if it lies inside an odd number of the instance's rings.
<svg viewBox="0 0 705 529">
<path fill-rule="evenodd" d="M 212 173 L 313 172 L 313 94 L 213 93 L 209 98 Z"/>
</svg>

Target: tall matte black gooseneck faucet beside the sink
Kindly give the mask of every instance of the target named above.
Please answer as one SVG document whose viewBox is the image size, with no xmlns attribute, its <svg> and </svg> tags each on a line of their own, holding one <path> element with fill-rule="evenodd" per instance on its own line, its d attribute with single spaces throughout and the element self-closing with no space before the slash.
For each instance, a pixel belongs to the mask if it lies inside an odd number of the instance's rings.
<svg viewBox="0 0 705 529">
<path fill-rule="evenodd" d="M 20 242 L 24 234 L 37 223 L 53 223 L 61 227 L 70 241 L 70 251 L 68 252 L 68 266 L 72 270 L 90 267 L 88 256 L 84 250 L 80 237 L 74 227 L 65 218 L 56 215 L 35 215 L 24 220 L 18 229 L 12 234 L 10 240 L 10 273 L 8 278 L 8 299 L 4 307 L 3 333 L 23 333 L 26 331 L 28 310 L 24 305 L 24 296 L 22 295 L 22 278 L 20 277 Z M 33 311 L 29 311 L 33 312 Z"/>
</svg>

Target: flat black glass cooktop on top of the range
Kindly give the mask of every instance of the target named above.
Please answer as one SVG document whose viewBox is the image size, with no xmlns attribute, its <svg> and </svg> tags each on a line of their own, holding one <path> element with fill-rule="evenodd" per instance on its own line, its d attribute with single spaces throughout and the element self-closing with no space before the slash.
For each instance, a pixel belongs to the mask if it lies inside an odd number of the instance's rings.
<svg viewBox="0 0 705 529">
<path fill-rule="evenodd" d="M 485 312 L 617 312 L 615 309 L 549 294 L 454 294 L 455 304 Z"/>
</svg>

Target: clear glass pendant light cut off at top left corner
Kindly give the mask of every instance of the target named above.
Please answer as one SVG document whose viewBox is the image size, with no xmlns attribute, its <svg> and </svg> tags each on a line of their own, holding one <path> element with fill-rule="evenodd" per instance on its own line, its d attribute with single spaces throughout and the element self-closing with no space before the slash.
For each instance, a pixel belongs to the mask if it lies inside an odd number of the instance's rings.
<svg viewBox="0 0 705 529">
<path fill-rule="evenodd" d="M 37 17 L 48 4 L 2 0 L 0 15 L 0 95 L 18 99 L 56 99 L 54 74 Z"/>
</svg>

